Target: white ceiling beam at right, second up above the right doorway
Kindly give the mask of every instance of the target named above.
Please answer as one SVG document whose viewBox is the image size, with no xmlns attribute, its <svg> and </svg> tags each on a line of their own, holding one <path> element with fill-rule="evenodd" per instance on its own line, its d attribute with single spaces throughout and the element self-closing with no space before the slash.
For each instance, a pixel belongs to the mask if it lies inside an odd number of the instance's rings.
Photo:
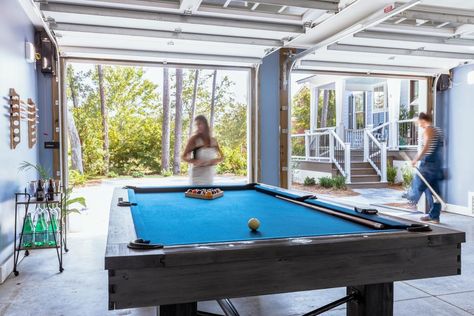
<svg viewBox="0 0 474 316">
<path fill-rule="evenodd" d="M 389 48 L 389 47 L 377 47 L 377 46 L 333 44 L 333 45 L 328 46 L 328 50 L 355 52 L 355 53 L 369 53 L 369 54 L 474 60 L 474 53 L 472 54 L 455 53 L 455 52 L 444 52 L 444 51 L 430 51 L 430 50 L 424 50 L 424 49 L 405 49 L 405 48 Z"/>
</svg>

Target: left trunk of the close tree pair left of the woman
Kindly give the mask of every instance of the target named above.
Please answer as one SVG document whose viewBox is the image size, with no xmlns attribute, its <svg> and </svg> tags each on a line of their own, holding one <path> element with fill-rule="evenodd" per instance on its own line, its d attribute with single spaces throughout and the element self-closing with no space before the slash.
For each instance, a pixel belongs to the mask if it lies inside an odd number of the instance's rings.
<svg viewBox="0 0 474 316">
<path fill-rule="evenodd" d="M 170 91 L 168 68 L 163 68 L 163 125 L 161 128 L 161 170 L 170 169 Z"/>
</svg>

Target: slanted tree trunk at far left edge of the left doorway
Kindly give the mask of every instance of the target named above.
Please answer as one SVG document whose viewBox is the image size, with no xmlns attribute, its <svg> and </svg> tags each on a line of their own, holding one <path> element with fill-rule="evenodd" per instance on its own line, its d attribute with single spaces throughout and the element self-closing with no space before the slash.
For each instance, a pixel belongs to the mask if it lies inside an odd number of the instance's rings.
<svg viewBox="0 0 474 316">
<path fill-rule="evenodd" d="M 77 99 L 77 91 L 74 78 L 74 70 L 72 66 L 67 69 L 67 78 L 69 82 L 69 89 L 71 91 L 72 105 L 74 108 L 79 106 Z M 77 132 L 76 122 L 72 115 L 71 108 L 67 106 L 67 129 L 69 134 L 69 144 L 71 146 L 71 169 L 77 170 L 81 174 L 84 173 L 84 167 L 82 164 L 82 146 L 79 133 Z"/>
</svg>

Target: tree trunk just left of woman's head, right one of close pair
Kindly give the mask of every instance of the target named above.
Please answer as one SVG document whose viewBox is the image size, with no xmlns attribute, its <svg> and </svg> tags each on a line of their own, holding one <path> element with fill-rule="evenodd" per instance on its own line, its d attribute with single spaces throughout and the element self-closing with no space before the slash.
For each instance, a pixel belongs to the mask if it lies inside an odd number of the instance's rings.
<svg viewBox="0 0 474 316">
<path fill-rule="evenodd" d="M 173 174 L 180 173 L 183 134 L 183 69 L 176 69 L 176 121 L 174 124 Z"/>
</svg>

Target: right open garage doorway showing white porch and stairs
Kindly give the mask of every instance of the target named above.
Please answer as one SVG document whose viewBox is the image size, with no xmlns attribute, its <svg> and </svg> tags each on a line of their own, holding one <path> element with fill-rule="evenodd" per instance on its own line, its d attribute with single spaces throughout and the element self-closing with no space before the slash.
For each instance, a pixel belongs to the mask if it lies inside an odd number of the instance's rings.
<svg viewBox="0 0 474 316">
<path fill-rule="evenodd" d="M 298 74 L 292 82 L 291 185 L 329 195 L 411 182 L 422 145 L 416 123 L 429 111 L 424 77 Z"/>
</svg>

